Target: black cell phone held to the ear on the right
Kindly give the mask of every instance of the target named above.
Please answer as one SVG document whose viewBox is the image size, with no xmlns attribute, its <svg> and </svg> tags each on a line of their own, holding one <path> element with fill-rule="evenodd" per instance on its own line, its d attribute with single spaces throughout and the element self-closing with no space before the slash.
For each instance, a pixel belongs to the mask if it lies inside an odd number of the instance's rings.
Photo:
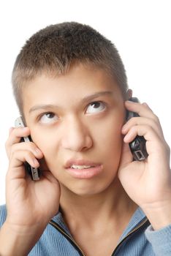
<svg viewBox="0 0 171 256">
<path fill-rule="evenodd" d="M 132 102 L 139 102 L 139 100 L 136 97 L 132 97 L 131 99 Z M 134 113 L 132 111 L 126 112 L 126 121 L 128 121 L 132 117 L 137 117 L 139 116 L 137 113 Z M 137 161 L 142 161 L 148 157 L 148 152 L 146 150 L 146 140 L 143 136 L 137 135 L 134 140 L 132 140 L 131 143 L 129 143 L 129 148 L 132 151 L 132 155 L 134 160 Z"/>
</svg>

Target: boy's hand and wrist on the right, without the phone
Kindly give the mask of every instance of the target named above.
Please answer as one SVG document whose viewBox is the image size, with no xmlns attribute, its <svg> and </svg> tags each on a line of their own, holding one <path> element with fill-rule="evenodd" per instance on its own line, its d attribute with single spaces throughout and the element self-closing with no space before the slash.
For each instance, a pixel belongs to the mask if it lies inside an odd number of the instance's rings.
<svg viewBox="0 0 171 256">
<path fill-rule="evenodd" d="M 170 148 L 164 140 L 159 118 L 146 103 L 125 102 L 140 117 L 123 125 L 123 151 L 118 177 L 129 197 L 142 208 L 154 229 L 171 224 Z M 133 161 L 129 144 L 144 136 L 148 158 Z"/>
</svg>

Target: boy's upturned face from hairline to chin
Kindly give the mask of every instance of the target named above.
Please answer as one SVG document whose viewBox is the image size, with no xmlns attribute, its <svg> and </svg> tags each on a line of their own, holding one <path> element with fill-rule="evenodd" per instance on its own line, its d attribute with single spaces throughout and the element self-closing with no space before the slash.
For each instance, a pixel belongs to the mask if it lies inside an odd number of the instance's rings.
<svg viewBox="0 0 171 256">
<path fill-rule="evenodd" d="M 23 102 L 31 138 L 61 187 L 77 195 L 93 195 L 113 183 L 125 109 L 117 83 L 106 72 L 80 64 L 57 78 L 38 76 L 23 89 Z M 100 167 L 68 169 L 69 159 Z"/>
</svg>

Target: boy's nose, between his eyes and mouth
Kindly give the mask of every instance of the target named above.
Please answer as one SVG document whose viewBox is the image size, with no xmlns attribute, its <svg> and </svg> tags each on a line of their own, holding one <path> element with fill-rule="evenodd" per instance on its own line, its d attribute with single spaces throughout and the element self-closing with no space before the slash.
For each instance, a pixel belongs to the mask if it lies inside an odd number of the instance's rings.
<svg viewBox="0 0 171 256">
<path fill-rule="evenodd" d="M 86 151 L 93 145 L 88 127 L 79 118 L 70 118 L 64 124 L 61 146 L 70 151 Z"/>
</svg>

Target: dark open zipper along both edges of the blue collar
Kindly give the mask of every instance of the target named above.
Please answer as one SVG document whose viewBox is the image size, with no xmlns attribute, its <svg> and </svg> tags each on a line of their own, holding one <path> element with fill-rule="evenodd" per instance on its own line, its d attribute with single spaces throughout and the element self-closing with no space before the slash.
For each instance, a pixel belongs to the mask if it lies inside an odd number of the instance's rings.
<svg viewBox="0 0 171 256">
<path fill-rule="evenodd" d="M 115 252 L 117 251 L 118 247 L 121 246 L 121 244 L 123 244 L 123 241 L 125 241 L 126 238 L 131 236 L 132 233 L 136 232 L 138 229 L 140 229 L 140 227 L 145 225 L 146 222 L 148 222 L 148 218 L 145 218 L 145 220 L 143 222 L 141 222 L 140 225 L 137 225 L 137 227 L 134 227 L 133 230 L 131 230 L 129 233 L 127 233 L 127 235 L 115 247 L 115 249 L 113 251 L 113 254 L 111 256 L 115 255 Z M 68 239 L 70 241 L 70 243 L 75 247 L 75 249 L 77 249 L 77 251 L 79 252 L 80 256 L 86 256 L 84 254 L 83 250 L 80 248 L 80 246 L 75 242 L 75 240 L 72 239 L 72 237 L 69 236 L 62 227 L 60 227 L 56 222 L 54 222 L 53 219 L 50 220 L 49 224 L 52 225 L 53 227 L 55 227 L 56 230 L 58 230 L 62 235 L 65 236 L 66 239 Z"/>
</svg>

